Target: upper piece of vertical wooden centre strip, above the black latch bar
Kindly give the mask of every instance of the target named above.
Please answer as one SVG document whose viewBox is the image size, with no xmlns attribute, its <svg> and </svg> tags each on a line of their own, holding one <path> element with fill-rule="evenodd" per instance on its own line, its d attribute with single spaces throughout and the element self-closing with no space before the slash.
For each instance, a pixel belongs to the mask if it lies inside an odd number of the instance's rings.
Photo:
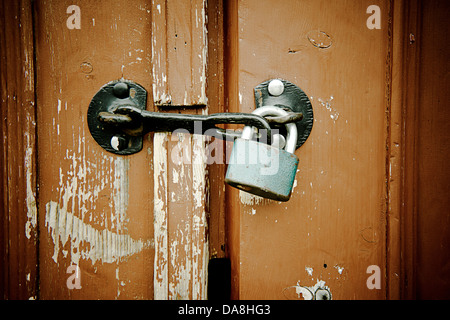
<svg viewBox="0 0 450 320">
<path fill-rule="evenodd" d="M 206 106 L 206 1 L 152 1 L 153 100 Z"/>
</svg>

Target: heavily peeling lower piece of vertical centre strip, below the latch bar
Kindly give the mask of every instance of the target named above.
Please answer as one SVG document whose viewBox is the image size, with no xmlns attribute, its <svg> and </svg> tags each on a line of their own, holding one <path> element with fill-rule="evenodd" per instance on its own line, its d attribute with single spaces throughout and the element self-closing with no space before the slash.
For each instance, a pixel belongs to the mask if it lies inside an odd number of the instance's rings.
<svg viewBox="0 0 450 320">
<path fill-rule="evenodd" d="M 205 211 L 206 140 L 202 135 L 173 134 L 171 138 L 169 135 L 156 133 L 153 139 L 154 298 L 206 299 L 209 258 Z M 177 143 L 170 144 L 169 141 Z M 169 145 L 173 148 L 169 149 Z M 189 161 L 184 162 L 186 160 L 184 155 L 183 161 L 172 160 L 168 163 L 175 150 L 180 148 L 192 150 L 188 155 Z M 172 156 L 168 153 L 172 153 Z M 170 199 L 168 199 L 169 171 L 172 175 L 171 182 L 181 184 L 177 192 L 170 192 Z M 177 209 L 171 209 L 177 208 L 178 204 L 186 207 L 185 215 Z M 179 220 L 173 220 L 169 226 L 169 217 L 172 213 L 182 216 Z"/>
</svg>

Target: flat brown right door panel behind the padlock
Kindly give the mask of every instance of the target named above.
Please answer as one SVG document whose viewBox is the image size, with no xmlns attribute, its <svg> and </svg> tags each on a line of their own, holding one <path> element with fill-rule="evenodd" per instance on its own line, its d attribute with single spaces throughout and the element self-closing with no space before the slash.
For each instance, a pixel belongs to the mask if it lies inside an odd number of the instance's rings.
<svg viewBox="0 0 450 320">
<path fill-rule="evenodd" d="M 251 112 L 253 87 L 283 78 L 302 88 L 314 127 L 296 151 L 292 198 L 228 189 L 233 292 L 301 298 L 324 281 L 333 298 L 376 299 L 370 265 L 385 273 L 388 1 L 239 1 L 227 6 L 230 111 Z M 326 47 L 326 48 L 321 48 Z M 238 98 L 239 97 L 239 98 Z M 239 249 L 236 249 L 239 246 Z"/>
</svg>

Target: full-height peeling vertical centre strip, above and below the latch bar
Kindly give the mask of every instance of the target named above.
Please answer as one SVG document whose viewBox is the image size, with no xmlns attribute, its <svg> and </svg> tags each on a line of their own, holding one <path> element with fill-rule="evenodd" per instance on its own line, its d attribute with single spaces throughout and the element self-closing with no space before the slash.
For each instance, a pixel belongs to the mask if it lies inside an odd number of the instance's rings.
<svg viewBox="0 0 450 320">
<path fill-rule="evenodd" d="M 207 114 L 207 8 L 199 1 L 152 3 L 153 100 L 159 110 Z M 212 86 L 214 88 L 214 86 Z M 155 299 L 206 299 L 209 260 L 207 140 L 153 136 Z"/>
</svg>

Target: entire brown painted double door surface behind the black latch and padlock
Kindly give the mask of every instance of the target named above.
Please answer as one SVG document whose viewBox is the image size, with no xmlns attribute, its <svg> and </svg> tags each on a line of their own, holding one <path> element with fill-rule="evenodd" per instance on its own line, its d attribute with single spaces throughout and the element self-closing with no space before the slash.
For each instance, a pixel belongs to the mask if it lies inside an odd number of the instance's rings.
<svg viewBox="0 0 450 320">
<path fill-rule="evenodd" d="M 2 297 L 206 299 L 215 258 L 234 299 L 448 297 L 445 0 L 1 9 Z M 150 133 L 123 157 L 89 133 L 113 80 L 147 110 L 211 114 L 252 112 L 271 78 L 314 109 L 288 202 L 224 184 L 210 150 L 231 143 Z"/>
</svg>

